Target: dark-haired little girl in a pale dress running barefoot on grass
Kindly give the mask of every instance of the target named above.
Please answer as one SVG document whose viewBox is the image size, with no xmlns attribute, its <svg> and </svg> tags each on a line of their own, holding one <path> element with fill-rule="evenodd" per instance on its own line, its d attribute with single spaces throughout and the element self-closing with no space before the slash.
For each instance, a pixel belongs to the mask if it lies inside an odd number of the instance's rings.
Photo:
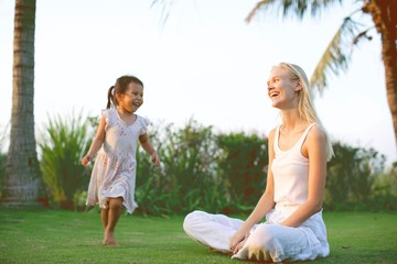
<svg viewBox="0 0 397 264">
<path fill-rule="evenodd" d="M 98 152 L 90 177 L 87 206 L 99 204 L 105 229 L 104 245 L 117 246 L 114 231 L 121 215 L 121 205 L 129 213 L 137 208 L 135 183 L 138 140 L 151 156 L 154 166 L 160 158 L 147 135 L 148 121 L 135 112 L 143 103 L 143 84 L 135 76 L 121 76 L 108 91 L 107 109 L 103 111 L 98 130 L 83 157 L 86 166 Z"/>
</svg>

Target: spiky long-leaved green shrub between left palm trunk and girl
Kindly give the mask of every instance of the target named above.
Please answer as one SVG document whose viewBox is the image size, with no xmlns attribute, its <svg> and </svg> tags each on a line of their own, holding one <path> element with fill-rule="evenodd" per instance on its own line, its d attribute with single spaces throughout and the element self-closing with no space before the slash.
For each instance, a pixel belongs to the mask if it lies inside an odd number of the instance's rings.
<svg viewBox="0 0 397 264">
<path fill-rule="evenodd" d="M 89 180 L 90 169 L 81 165 L 92 135 L 84 121 L 82 114 L 77 118 L 49 118 L 46 133 L 39 143 L 40 168 L 51 199 L 69 210 L 75 208 L 75 194 L 86 189 Z"/>
</svg>

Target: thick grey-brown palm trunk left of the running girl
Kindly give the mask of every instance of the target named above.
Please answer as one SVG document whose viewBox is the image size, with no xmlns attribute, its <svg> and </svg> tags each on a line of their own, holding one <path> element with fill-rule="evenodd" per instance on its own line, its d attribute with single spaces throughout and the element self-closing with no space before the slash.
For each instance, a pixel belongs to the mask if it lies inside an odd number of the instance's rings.
<svg viewBox="0 0 397 264">
<path fill-rule="evenodd" d="M 15 0 L 10 146 L 6 163 L 4 206 L 36 205 L 41 186 L 34 138 L 35 0 Z"/>
</svg>

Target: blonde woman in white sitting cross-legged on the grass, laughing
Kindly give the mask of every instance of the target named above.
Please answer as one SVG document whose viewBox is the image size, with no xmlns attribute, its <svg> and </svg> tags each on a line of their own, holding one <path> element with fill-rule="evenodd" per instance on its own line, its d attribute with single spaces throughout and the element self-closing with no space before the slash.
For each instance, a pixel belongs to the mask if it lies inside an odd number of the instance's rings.
<svg viewBox="0 0 397 264">
<path fill-rule="evenodd" d="M 314 111 L 304 72 L 275 66 L 267 81 L 282 123 L 269 134 L 266 190 L 246 221 L 194 211 L 183 228 L 194 240 L 233 258 L 292 262 L 330 253 L 322 219 L 326 162 L 333 151 Z M 258 223 L 266 217 L 266 222 Z"/>
</svg>

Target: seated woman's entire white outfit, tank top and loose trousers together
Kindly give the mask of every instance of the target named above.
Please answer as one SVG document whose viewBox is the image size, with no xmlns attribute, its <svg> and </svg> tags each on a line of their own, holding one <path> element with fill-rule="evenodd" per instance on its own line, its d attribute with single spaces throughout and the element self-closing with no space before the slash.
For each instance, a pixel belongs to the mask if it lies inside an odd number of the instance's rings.
<svg viewBox="0 0 397 264">
<path fill-rule="evenodd" d="M 233 258 L 259 261 L 308 261 L 330 254 L 322 211 L 311 216 L 298 228 L 279 224 L 308 199 L 309 160 L 301 146 L 315 124 L 311 124 L 300 140 L 288 151 L 278 144 L 279 128 L 275 136 L 275 160 L 271 170 L 275 179 L 276 207 L 266 216 L 266 222 L 250 230 L 250 235 Z M 224 215 L 193 211 L 185 217 L 183 228 L 194 240 L 216 251 L 232 253 L 229 240 L 244 223 Z"/>
</svg>

